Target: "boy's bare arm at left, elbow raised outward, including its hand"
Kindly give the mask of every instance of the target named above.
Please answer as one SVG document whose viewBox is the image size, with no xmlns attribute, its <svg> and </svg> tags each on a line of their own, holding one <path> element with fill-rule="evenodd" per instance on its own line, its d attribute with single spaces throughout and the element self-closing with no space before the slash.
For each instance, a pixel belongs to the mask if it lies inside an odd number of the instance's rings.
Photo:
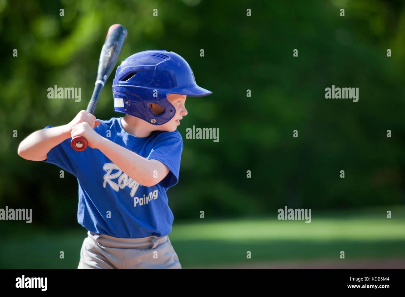
<svg viewBox="0 0 405 297">
<path fill-rule="evenodd" d="M 96 121 L 95 116 L 85 110 L 81 110 L 77 116 L 66 125 L 42 129 L 31 133 L 26 139 L 21 141 L 18 147 L 18 155 L 32 161 L 46 160 L 48 152 L 62 141 L 70 138 L 72 127 L 81 122 L 87 122 L 93 128 L 100 124 L 100 121 Z"/>
</svg>

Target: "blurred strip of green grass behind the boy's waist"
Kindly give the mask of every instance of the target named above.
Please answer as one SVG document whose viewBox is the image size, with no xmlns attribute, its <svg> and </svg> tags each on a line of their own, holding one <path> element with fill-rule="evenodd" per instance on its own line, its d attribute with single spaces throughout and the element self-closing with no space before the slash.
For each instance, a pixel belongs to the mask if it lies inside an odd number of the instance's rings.
<svg viewBox="0 0 405 297">
<path fill-rule="evenodd" d="M 384 207 L 385 209 L 386 207 Z M 405 257 L 405 208 L 312 213 L 312 222 L 234 219 L 181 222 L 169 234 L 183 269 L 272 261 L 345 260 Z M 333 217 L 332 217 L 333 215 Z M 76 269 L 87 231 L 55 232 L 22 222 L 2 221 L 0 268 Z M 12 227 L 12 228 L 11 228 Z M 64 251 L 64 259 L 60 259 Z M 246 258 L 247 251 L 252 259 Z"/>
</svg>

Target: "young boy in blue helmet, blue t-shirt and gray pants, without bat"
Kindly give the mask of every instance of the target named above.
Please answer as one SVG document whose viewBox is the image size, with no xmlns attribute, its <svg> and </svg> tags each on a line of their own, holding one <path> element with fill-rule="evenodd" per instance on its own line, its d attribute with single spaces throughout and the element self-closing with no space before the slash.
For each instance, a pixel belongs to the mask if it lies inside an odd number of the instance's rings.
<svg viewBox="0 0 405 297">
<path fill-rule="evenodd" d="M 82 110 L 20 143 L 22 158 L 77 177 L 77 219 L 88 230 L 78 269 L 181 269 L 167 236 L 173 213 L 166 191 L 178 181 L 183 150 L 176 129 L 187 115 L 186 97 L 211 93 L 176 53 L 143 51 L 115 74 L 114 110 L 123 118 L 96 120 Z M 86 150 L 72 149 L 75 136 L 87 140 Z"/>
</svg>

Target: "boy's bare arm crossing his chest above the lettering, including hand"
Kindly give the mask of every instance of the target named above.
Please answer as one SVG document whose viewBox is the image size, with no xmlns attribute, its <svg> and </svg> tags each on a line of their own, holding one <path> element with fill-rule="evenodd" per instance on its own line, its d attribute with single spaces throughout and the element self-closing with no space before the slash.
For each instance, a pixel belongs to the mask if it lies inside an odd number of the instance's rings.
<svg viewBox="0 0 405 297">
<path fill-rule="evenodd" d="M 152 187 L 160 183 L 170 171 L 166 165 L 159 160 L 147 160 L 127 150 L 125 147 L 102 137 L 87 123 L 80 123 L 72 128 L 71 137 L 77 135 L 83 136 L 91 148 L 100 150 L 107 158 L 113 161 L 119 169 L 128 175 L 128 177 L 143 186 Z M 154 172 L 155 170 L 156 172 Z"/>
</svg>

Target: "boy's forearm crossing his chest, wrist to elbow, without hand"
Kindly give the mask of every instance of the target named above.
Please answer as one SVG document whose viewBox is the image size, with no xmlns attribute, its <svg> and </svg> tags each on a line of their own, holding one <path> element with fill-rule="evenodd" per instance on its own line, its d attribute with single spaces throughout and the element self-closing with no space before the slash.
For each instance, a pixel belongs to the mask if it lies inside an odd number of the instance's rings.
<svg viewBox="0 0 405 297">
<path fill-rule="evenodd" d="M 115 163 L 128 177 L 141 185 L 151 186 L 153 169 L 149 160 L 127 150 L 125 147 L 101 137 L 97 148 Z"/>
</svg>

